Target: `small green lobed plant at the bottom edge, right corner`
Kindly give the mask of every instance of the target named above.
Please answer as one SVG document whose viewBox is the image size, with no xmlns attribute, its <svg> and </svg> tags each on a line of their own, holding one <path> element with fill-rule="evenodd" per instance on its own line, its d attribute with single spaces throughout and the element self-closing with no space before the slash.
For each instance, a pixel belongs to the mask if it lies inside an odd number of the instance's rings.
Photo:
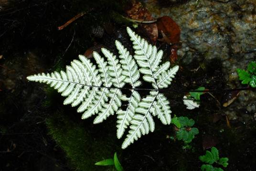
<svg viewBox="0 0 256 171">
<path fill-rule="evenodd" d="M 219 158 L 219 151 L 215 147 L 211 148 L 210 151 L 206 151 L 205 155 L 200 156 L 199 159 L 207 164 L 203 164 L 201 166 L 201 171 L 223 171 L 221 168 L 213 167 L 213 163 L 217 163 L 219 165 L 222 165 L 224 168 L 228 165 L 228 158 L 222 157 Z"/>
</svg>

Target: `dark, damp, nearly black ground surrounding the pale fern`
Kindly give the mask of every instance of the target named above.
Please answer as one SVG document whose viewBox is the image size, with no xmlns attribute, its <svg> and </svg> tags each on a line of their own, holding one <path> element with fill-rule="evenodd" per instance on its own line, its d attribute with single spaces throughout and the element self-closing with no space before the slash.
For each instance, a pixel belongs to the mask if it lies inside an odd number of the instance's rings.
<svg viewBox="0 0 256 171">
<path fill-rule="evenodd" d="M 9 1 L 7 1 L 9 2 Z M 1 1 L 5 3 L 5 1 Z M 26 76 L 60 70 L 84 54 L 95 42 L 114 49 L 120 40 L 131 51 L 125 26 L 108 18 L 111 10 L 121 4 L 84 0 L 22 0 L 10 1 L 0 10 L 0 171 L 96 171 L 110 170 L 93 164 L 111 158 L 117 152 L 126 171 L 199 171 L 206 146 L 214 143 L 221 157 L 229 158 L 225 171 L 256 170 L 256 124 L 230 122 L 227 126 L 221 101 L 223 93 L 205 94 L 201 107 L 192 111 L 182 104 L 183 90 L 205 86 L 224 89 L 220 61 L 204 63 L 203 57 L 192 65 L 180 64 L 181 69 L 171 89 L 166 92 L 172 115 L 195 120 L 199 134 L 191 150 L 183 150 L 181 141 L 166 138 L 174 134 L 173 127 L 163 126 L 155 119 L 154 133 L 121 150 L 122 141 L 116 138 L 116 120 L 111 116 L 101 124 L 92 119 L 81 120 L 81 114 L 48 86 L 28 82 Z M 57 30 L 81 11 L 89 11 L 74 23 Z M 106 24 L 107 23 L 107 24 Z M 95 33 L 94 28 L 111 25 L 113 32 Z M 168 49 L 163 49 L 168 51 Z M 167 57 L 166 57 L 167 58 Z M 145 86 L 145 85 L 143 85 Z M 146 95 L 142 92 L 141 95 Z M 243 117 L 245 110 L 239 111 Z M 214 120 L 214 122 L 213 122 Z M 209 138 L 208 138 L 209 139 Z M 54 141 L 55 140 L 55 141 Z M 56 143 L 57 142 L 57 143 Z M 205 146 L 205 144 L 204 144 Z"/>
</svg>

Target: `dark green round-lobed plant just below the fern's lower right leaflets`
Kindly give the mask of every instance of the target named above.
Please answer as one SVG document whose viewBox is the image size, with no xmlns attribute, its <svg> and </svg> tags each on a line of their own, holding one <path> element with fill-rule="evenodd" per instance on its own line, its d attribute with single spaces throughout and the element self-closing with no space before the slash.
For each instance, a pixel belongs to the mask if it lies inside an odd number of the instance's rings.
<svg viewBox="0 0 256 171">
<path fill-rule="evenodd" d="M 192 128 L 195 124 L 193 119 L 189 119 L 188 117 L 174 117 L 171 120 L 176 126 L 176 137 L 178 140 L 182 140 L 185 145 L 183 148 L 191 148 L 189 145 L 190 142 L 195 138 L 195 135 L 199 133 L 197 128 Z"/>
</svg>

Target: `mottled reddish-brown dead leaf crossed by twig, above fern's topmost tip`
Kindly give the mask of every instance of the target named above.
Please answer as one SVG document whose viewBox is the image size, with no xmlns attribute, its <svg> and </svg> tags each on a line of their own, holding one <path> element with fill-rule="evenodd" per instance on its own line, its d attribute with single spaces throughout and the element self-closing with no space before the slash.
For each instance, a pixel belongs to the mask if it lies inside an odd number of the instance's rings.
<svg viewBox="0 0 256 171">
<path fill-rule="evenodd" d="M 139 21 L 154 20 L 149 11 L 137 0 L 132 0 L 125 12 L 131 19 L 136 19 Z M 156 23 L 141 23 L 139 24 L 138 31 L 145 34 L 145 36 L 150 39 L 151 43 L 156 43 L 158 38 L 158 29 Z"/>
</svg>

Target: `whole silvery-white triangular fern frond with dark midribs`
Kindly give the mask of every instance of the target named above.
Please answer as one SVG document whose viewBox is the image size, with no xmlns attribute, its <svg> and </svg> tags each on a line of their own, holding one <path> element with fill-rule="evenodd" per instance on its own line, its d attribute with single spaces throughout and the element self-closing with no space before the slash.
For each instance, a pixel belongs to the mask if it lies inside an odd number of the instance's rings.
<svg viewBox="0 0 256 171">
<path fill-rule="evenodd" d="M 130 129 L 122 144 L 123 149 L 138 140 L 141 134 L 154 131 L 152 116 L 157 116 L 163 124 L 171 123 L 169 102 L 159 89 L 168 87 L 179 69 L 179 66 L 170 68 L 170 62 L 160 65 L 162 50 L 157 51 L 157 47 L 148 44 L 130 28 L 127 28 L 127 32 L 135 49 L 134 57 L 116 41 L 119 60 L 105 48 L 101 50 L 107 61 L 93 52 L 98 69 L 89 59 L 80 55 L 80 60 L 72 61 L 71 66 L 66 66 L 65 72 L 27 77 L 30 81 L 53 86 L 66 96 L 64 104 L 73 107 L 79 105 L 77 112 L 83 113 L 82 119 L 96 114 L 94 123 L 101 123 L 109 115 L 117 114 L 117 138 L 122 137 L 128 126 Z M 136 88 L 141 84 L 138 80 L 140 74 L 154 88 L 142 99 Z M 130 96 L 122 95 L 121 92 L 126 83 L 132 86 Z M 120 108 L 121 101 L 128 101 L 125 110 Z"/>
</svg>

